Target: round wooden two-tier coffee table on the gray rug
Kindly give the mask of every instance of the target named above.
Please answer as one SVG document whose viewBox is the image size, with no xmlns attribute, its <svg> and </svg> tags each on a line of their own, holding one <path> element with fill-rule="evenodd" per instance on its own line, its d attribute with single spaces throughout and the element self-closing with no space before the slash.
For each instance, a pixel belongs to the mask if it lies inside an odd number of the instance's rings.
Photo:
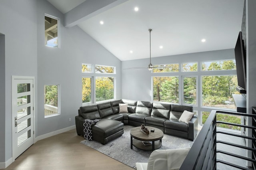
<svg viewBox="0 0 256 170">
<path fill-rule="evenodd" d="M 131 149 L 132 146 L 135 146 L 136 148 L 143 150 L 155 150 L 162 146 L 162 138 L 164 137 L 163 131 L 155 127 L 145 127 L 148 128 L 149 134 L 143 133 L 140 130 L 140 127 L 131 129 Z M 154 129 L 155 131 L 150 132 L 151 129 Z"/>
</svg>

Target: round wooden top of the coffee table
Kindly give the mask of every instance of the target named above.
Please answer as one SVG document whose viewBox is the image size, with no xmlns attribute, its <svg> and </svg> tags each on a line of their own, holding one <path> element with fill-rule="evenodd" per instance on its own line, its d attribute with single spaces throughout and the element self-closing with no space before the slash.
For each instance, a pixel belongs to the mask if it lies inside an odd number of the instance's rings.
<svg viewBox="0 0 256 170">
<path fill-rule="evenodd" d="M 149 134 L 145 134 L 140 130 L 140 127 L 134 127 L 131 129 L 130 134 L 133 138 L 142 140 L 142 141 L 155 141 L 160 140 L 164 137 L 164 132 L 158 128 L 155 127 L 148 127 Z M 154 132 L 150 132 L 150 129 L 154 129 Z"/>
</svg>

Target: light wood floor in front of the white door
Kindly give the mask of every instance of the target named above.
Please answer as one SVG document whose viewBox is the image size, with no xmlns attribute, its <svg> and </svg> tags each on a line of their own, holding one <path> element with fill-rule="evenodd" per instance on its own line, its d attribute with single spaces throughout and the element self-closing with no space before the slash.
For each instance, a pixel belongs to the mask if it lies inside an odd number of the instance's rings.
<svg viewBox="0 0 256 170">
<path fill-rule="evenodd" d="M 6 170 L 134 170 L 80 142 L 70 130 L 39 140 Z"/>
</svg>

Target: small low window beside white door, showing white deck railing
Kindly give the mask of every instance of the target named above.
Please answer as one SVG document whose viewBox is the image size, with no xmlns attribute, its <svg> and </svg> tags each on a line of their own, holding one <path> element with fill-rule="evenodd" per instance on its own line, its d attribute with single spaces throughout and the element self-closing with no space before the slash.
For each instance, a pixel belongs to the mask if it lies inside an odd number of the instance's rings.
<svg viewBox="0 0 256 170">
<path fill-rule="evenodd" d="M 44 117 L 59 115 L 59 85 L 44 86 Z"/>
</svg>

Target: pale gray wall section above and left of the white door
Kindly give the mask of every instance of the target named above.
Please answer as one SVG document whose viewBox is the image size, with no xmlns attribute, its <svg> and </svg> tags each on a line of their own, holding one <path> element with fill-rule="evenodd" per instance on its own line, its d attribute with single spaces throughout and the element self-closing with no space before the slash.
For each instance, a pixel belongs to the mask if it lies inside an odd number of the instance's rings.
<svg viewBox="0 0 256 170">
<path fill-rule="evenodd" d="M 29 9 L 29 10 L 28 10 Z M 5 156 L 0 154 L 0 162 L 12 157 L 12 120 L 11 120 L 11 76 L 37 75 L 37 21 L 36 1 L 1 0 L 0 33 L 5 35 Z M 3 79 L 1 79 L 3 80 Z"/>
</svg>

